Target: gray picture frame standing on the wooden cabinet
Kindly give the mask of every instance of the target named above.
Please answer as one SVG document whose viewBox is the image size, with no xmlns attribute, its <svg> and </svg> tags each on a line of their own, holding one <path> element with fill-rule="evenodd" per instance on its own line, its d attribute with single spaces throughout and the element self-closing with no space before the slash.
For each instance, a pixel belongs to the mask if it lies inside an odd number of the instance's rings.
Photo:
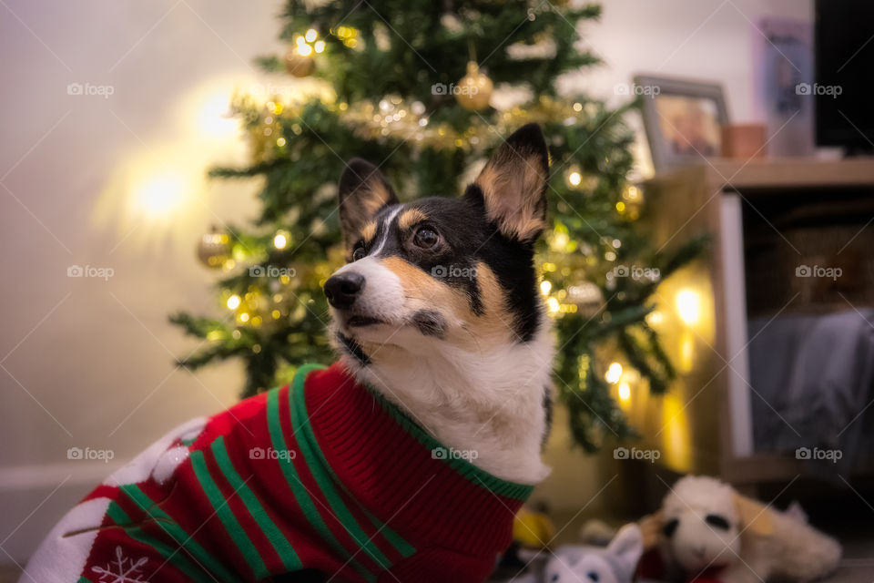
<svg viewBox="0 0 874 583">
<path fill-rule="evenodd" d="M 722 84 L 649 75 L 634 83 L 656 172 L 721 154 L 722 127 L 729 123 Z"/>
</svg>

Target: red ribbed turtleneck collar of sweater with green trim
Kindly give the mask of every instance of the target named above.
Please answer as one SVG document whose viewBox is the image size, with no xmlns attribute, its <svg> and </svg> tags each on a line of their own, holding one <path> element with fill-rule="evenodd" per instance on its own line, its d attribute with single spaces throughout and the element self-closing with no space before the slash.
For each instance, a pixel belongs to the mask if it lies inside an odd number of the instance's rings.
<svg viewBox="0 0 874 583">
<path fill-rule="evenodd" d="M 415 546 L 491 554 L 510 544 L 513 517 L 534 486 L 503 480 L 463 459 L 357 383 L 342 363 L 301 367 L 293 391 L 331 475 Z"/>
</svg>

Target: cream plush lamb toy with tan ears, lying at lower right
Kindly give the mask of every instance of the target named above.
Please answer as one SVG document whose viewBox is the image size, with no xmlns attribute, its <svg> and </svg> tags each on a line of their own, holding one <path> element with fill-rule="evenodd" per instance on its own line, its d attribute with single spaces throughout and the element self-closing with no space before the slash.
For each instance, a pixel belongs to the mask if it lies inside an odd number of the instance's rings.
<svg viewBox="0 0 874 583">
<path fill-rule="evenodd" d="M 667 571 L 690 582 L 812 581 L 837 568 L 841 555 L 803 513 L 764 506 L 707 476 L 680 479 L 641 527 L 645 547 L 657 547 Z"/>
</svg>

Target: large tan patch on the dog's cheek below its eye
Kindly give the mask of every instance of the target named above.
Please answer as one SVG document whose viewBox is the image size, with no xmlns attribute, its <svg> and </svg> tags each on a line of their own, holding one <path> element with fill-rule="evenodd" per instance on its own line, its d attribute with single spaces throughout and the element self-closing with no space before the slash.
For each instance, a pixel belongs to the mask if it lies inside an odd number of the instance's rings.
<svg viewBox="0 0 874 583">
<path fill-rule="evenodd" d="M 477 286 L 483 313 L 471 308 L 466 293 L 434 278 L 399 257 L 387 257 L 381 264 L 394 273 L 404 290 L 404 312 L 440 312 L 448 324 L 444 340 L 466 349 L 488 349 L 516 340 L 513 314 L 508 310 L 507 292 L 485 263 L 476 265 Z"/>
</svg>

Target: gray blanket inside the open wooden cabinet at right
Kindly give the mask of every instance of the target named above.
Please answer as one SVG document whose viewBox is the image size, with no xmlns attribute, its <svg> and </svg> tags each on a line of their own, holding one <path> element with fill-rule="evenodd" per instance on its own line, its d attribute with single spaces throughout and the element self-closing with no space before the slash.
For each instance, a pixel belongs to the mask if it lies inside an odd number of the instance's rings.
<svg viewBox="0 0 874 583">
<path fill-rule="evenodd" d="M 757 451 L 807 459 L 818 476 L 871 465 L 874 310 L 749 322 Z"/>
</svg>

